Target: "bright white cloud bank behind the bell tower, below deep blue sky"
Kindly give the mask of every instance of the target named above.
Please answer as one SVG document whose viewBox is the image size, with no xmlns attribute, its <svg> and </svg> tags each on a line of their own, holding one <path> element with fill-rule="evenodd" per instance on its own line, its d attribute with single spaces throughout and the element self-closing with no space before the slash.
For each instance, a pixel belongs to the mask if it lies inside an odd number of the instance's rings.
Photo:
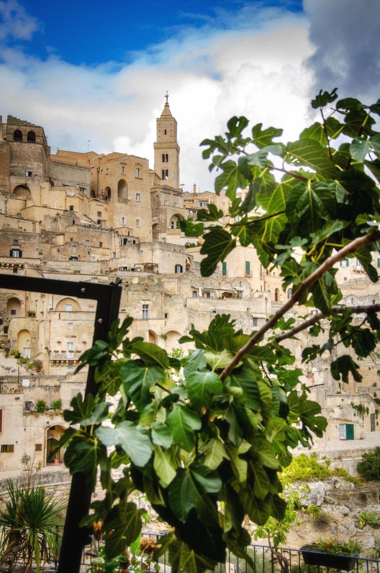
<svg viewBox="0 0 380 573">
<path fill-rule="evenodd" d="M 0 112 L 43 125 L 52 152 L 87 151 L 90 139 L 95 151 L 141 155 L 153 167 L 156 117 L 168 89 L 180 182 L 187 190 L 193 183 L 212 189 L 215 174 L 199 143 L 226 131 L 232 115 L 285 128 L 285 140 L 303 128 L 313 83 L 304 64 L 312 54 L 307 33 L 299 15 L 245 7 L 233 18 L 223 12 L 200 29 L 181 29 L 129 64 L 76 66 L 3 48 Z"/>
</svg>

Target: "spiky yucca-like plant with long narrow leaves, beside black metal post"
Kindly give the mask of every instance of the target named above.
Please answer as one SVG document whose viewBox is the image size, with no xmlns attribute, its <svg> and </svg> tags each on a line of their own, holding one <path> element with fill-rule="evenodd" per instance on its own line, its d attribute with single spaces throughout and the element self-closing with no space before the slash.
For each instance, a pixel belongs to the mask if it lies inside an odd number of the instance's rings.
<svg viewBox="0 0 380 573">
<path fill-rule="evenodd" d="M 14 563 L 27 552 L 25 572 L 31 570 L 34 562 L 39 573 L 47 550 L 52 555 L 58 553 L 56 525 L 60 524 L 59 513 L 64 505 L 46 496 L 43 488 L 18 488 L 9 482 L 7 492 L 9 500 L 0 511 L 0 571 L 13 571 Z"/>
</svg>

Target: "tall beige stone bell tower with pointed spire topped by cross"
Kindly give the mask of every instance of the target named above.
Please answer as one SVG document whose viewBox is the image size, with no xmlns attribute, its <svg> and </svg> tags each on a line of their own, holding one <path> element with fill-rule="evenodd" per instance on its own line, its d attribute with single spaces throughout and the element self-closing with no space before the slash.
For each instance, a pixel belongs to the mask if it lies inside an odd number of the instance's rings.
<svg viewBox="0 0 380 573">
<path fill-rule="evenodd" d="M 157 117 L 157 141 L 154 142 L 154 171 L 162 184 L 175 189 L 180 186 L 180 146 L 177 143 L 177 121 L 170 112 L 168 92 L 161 116 Z"/>
</svg>

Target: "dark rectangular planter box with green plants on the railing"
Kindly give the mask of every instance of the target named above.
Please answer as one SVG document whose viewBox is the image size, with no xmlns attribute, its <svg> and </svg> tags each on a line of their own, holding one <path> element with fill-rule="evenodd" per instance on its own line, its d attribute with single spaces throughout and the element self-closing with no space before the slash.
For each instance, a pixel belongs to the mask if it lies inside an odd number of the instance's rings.
<svg viewBox="0 0 380 573">
<path fill-rule="evenodd" d="M 307 565 L 352 571 L 362 547 L 358 541 L 350 539 L 350 541 L 341 542 L 332 537 L 332 539 L 325 541 L 320 539 L 304 545 L 300 551 Z"/>
</svg>

